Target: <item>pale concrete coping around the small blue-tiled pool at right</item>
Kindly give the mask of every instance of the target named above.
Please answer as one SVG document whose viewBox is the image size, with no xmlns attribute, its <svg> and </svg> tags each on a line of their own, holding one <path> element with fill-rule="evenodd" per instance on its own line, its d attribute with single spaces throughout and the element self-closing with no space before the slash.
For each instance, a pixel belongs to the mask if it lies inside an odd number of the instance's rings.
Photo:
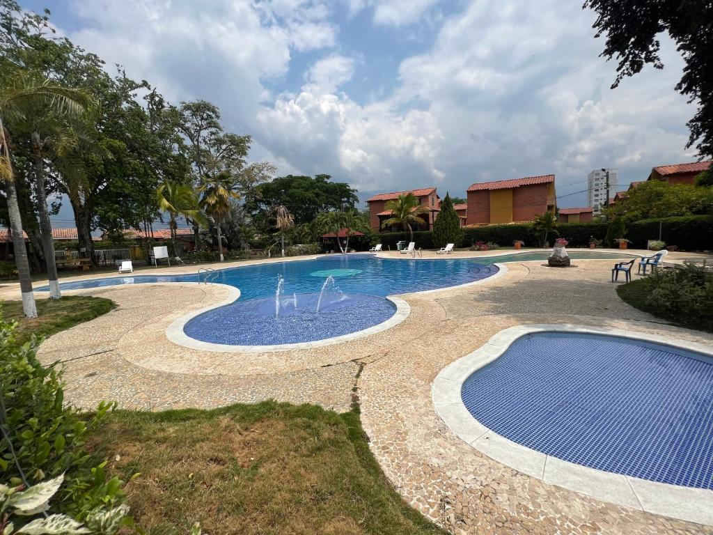
<svg viewBox="0 0 713 535">
<path fill-rule="evenodd" d="M 461 398 L 463 382 L 482 367 L 503 355 L 520 337 L 540 332 L 569 332 L 607 335 L 665 345 L 676 350 L 713 358 L 702 344 L 635 330 L 585 327 L 582 325 L 518 325 L 502 330 L 478 350 L 441 370 L 431 385 L 431 399 L 438 416 L 453 433 L 487 457 L 545 483 L 562 486 L 613 504 L 675 519 L 713 525 L 713 490 L 694 489 L 637 477 L 603 472 L 563 461 L 516 444 L 476 420 Z"/>
</svg>

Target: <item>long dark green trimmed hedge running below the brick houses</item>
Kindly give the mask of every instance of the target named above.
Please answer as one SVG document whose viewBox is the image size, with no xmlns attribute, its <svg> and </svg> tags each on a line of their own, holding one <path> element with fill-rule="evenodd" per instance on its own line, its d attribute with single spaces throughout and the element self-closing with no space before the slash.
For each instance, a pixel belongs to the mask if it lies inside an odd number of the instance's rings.
<svg viewBox="0 0 713 535">
<path fill-rule="evenodd" d="M 650 219 L 630 223 L 627 238 L 632 240 L 632 248 L 645 249 L 647 240 L 657 240 L 659 237 L 659 223 L 662 222 L 661 239 L 667 245 L 676 245 L 683 250 L 709 250 L 713 248 L 713 216 L 690 215 L 680 218 Z M 463 243 L 456 243 L 456 247 L 471 247 L 478 241 L 493 242 L 508 247 L 515 240 L 523 240 L 525 247 L 539 247 L 538 233 L 533 225 L 518 223 L 513 225 L 488 225 L 485 227 L 472 227 L 463 229 Z M 607 234 L 607 223 L 559 223 L 558 233 L 550 236 L 548 241 L 553 243 L 556 237 L 566 238 L 570 247 L 587 247 L 591 237 L 604 240 Z M 384 244 L 384 249 L 396 249 L 399 240 L 409 241 L 408 233 L 383 233 L 379 240 Z M 433 236 L 430 231 L 414 233 L 416 248 L 433 249 Z"/>
</svg>

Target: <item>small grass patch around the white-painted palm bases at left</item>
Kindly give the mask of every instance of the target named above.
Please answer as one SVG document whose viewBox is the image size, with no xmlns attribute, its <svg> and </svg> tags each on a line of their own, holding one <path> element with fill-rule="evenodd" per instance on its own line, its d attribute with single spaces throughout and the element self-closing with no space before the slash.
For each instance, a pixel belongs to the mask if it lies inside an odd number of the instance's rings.
<svg viewBox="0 0 713 535">
<path fill-rule="evenodd" d="M 38 317 L 31 320 L 22 314 L 21 301 L 2 302 L 2 314 L 6 320 L 18 320 L 15 331 L 18 342 L 29 340 L 32 333 L 48 337 L 78 323 L 93 320 L 116 307 L 111 299 L 69 295 L 61 299 L 38 299 Z"/>
</svg>

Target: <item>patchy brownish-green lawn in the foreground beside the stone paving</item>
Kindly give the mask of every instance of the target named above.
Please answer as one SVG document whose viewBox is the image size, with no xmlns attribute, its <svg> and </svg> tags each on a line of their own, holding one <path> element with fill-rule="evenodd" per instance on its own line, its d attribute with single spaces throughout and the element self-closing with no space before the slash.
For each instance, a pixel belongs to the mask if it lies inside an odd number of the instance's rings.
<svg viewBox="0 0 713 535">
<path fill-rule="evenodd" d="M 394 491 L 357 409 L 237 404 L 116 411 L 88 441 L 124 481 L 138 524 L 185 535 L 445 534 Z M 118 459 L 118 460 L 117 460 Z"/>
</svg>

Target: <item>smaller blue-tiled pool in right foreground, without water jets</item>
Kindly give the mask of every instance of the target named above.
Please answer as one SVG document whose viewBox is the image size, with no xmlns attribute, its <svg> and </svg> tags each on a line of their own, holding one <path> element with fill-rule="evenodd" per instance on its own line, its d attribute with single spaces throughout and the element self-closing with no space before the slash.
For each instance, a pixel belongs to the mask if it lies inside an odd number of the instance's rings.
<svg viewBox="0 0 713 535">
<path fill-rule="evenodd" d="M 713 489 L 713 360 L 625 338 L 543 332 L 463 384 L 513 442 L 586 467 Z"/>
</svg>

